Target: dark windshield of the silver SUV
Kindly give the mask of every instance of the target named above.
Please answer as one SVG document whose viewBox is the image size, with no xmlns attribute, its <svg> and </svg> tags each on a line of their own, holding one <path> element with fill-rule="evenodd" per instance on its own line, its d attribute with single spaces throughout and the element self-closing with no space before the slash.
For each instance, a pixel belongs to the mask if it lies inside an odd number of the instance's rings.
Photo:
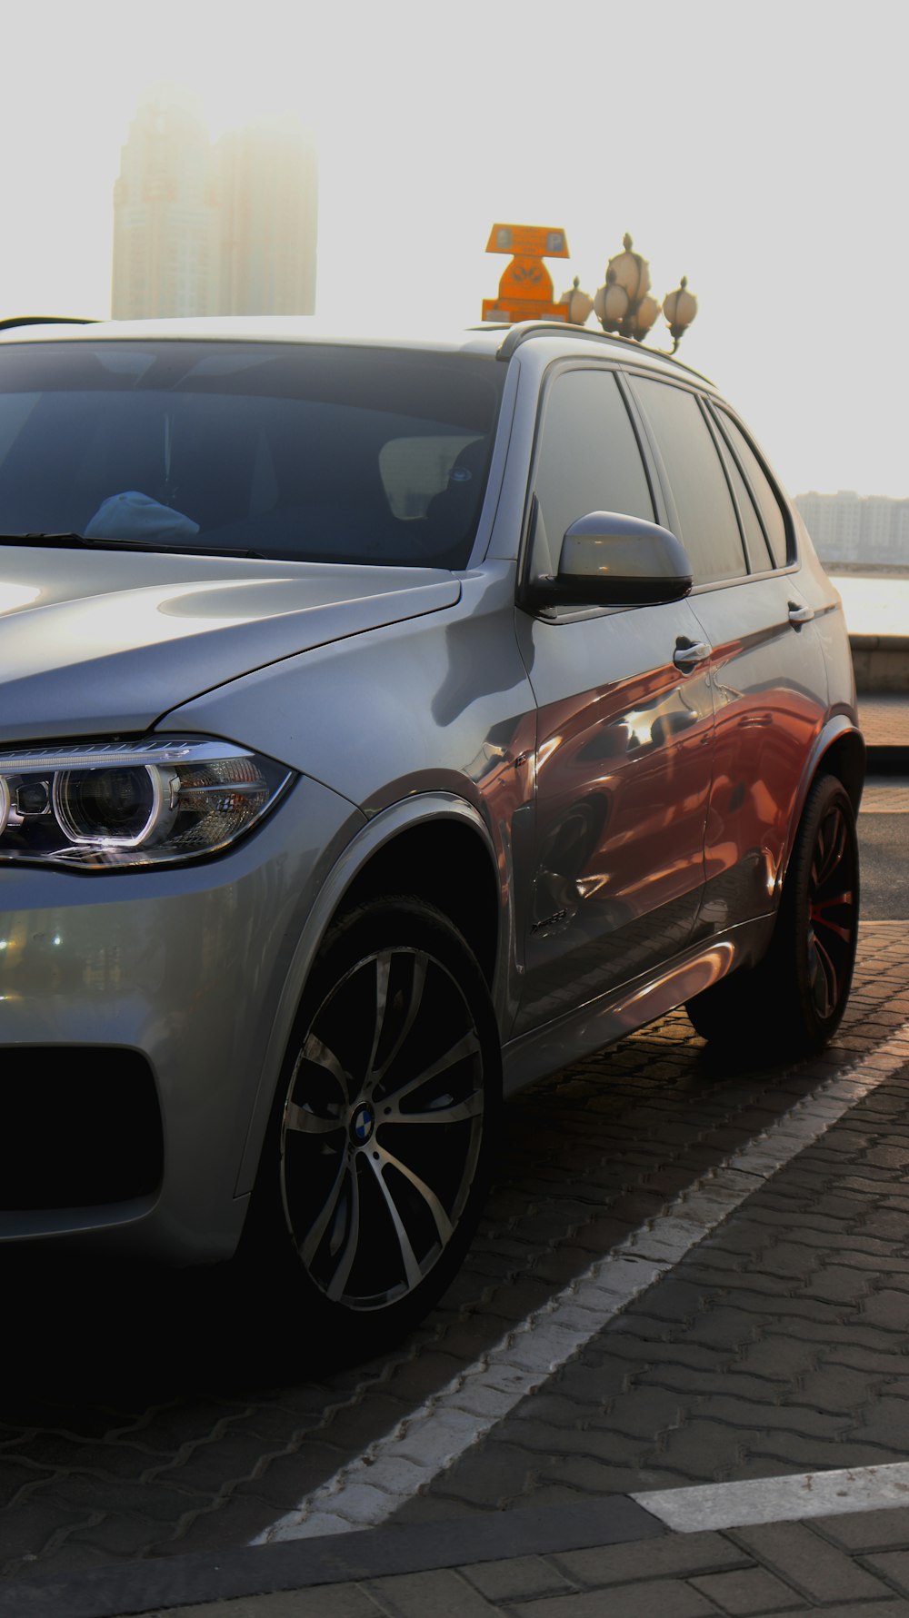
<svg viewBox="0 0 909 1618">
<path fill-rule="evenodd" d="M 0 345 L 0 534 L 463 568 L 504 371 L 353 346 Z"/>
</svg>

